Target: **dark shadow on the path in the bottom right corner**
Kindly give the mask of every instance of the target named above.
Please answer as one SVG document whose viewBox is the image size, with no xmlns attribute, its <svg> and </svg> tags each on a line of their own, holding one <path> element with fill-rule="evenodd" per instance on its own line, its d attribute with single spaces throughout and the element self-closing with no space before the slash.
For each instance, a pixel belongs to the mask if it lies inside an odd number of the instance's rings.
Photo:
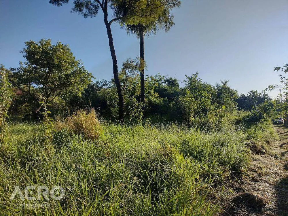
<svg viewBox="0 0 288 216">
<path fill-rule="evenodd" d="M 288 164 L 285 164 L 287 168 Z M 275 186 L 276 212 L 278 216 L 288 215 L 288 177 L 281 179 Z"/>
</svg>

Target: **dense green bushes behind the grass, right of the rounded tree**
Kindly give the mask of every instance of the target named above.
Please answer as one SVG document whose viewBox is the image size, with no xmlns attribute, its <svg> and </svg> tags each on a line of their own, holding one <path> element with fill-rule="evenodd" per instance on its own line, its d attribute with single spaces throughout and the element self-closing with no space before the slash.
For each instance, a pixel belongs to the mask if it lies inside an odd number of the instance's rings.
<svg viewBox="0 0 288 216">
<path fill-rule="evenodd" d="M 141 122 L 141 116 L 152 123 L 178 122 L 196 126 L 201 130 L 229 127 L 236 121 L 237 103 L 243 107 L 244 102 L 258 101 L 257 106 L 251 107 L 249 118 L 245 122 L 257 123 L 267 116 L 274 115 L 274 102 L 268 95 L 261 93 L 241 95 L 238 98 L 236 90 L 230 88 L 227 81 L 212 86 L 202 82 L 198 73 L 187 76 L 185 86 L 180 87 L 179 81 L 172 77 L 161 75 L 146 76 L 145 79 L 145 110 L 141 111 L 140 80 L 138 76 L 139 60 L 128 59 L 120 71 L 125 100 L 126 122 Z M 237 99 L 238 98 L 238 99 Z M 249 100 L 247 98 L 250 98 Z M 118 104 L 116 86 L 112 81 L 96 81 L 84 91 L 81 97 L 70 101 L 72 109 L 92 107 L 106 119 L 117 119 Z M 263 103 L 262 103 L 263 102 Z M 239 108 L 240 109 L 240 108 Z M 138 119 L 138 120 L 136 120 Z"/>
</svg>

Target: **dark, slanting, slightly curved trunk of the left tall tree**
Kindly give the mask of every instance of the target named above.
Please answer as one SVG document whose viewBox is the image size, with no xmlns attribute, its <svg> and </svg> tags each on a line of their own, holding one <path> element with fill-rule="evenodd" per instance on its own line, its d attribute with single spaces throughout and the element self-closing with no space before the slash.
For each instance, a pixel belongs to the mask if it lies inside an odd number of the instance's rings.
<svg viewBox="0 0 288 216">
<path fill-rule="evenodd" d="M 109 39 L 109 47 L 110 47 L 110 52 L 111 52 L 111 57 L 112 57 L 112 62 L 113 62 L 114 82 L 115 82 L 116 87 L 117 87 L 117 93 L 118 93 L 118 98 L 119 98 L 119 121 L 120 121 L 120 123 L 123 123 L 124 122 L 124 99 L 123 99 L 121 84 L 120 84 L 120 80 L 119 80 L 119 76 L 118 76 L 118 65 L 117 65 L 115 48 L 114 48 L 114 44 L 113 44 L 111 26 L 110 26 L 107 19 L 105 19 L 104 22 L 105 22 L 105 26 L 107 29 L 107 35 L 108 35 L 108 39 Z"/>
</svg>

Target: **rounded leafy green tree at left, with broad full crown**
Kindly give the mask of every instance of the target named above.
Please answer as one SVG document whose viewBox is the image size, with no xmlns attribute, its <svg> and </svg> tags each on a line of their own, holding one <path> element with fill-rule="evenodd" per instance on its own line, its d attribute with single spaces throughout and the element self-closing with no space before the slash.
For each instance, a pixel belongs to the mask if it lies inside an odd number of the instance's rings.
<svg viewBox="0 0 288 216">
<path fill-rule="evenodd" d="M 26 58 L 20 67 L 11 68 L 10 82 L 29 95 L 34 105 L 40 101 L 51 104 L 57 97 L 79 94 L 91 82 L 92 75 L 76 60 L 68 45 L 42 39 L 38 42 L 25 42 L 26 48 L 21 53 Z M 35 108 L 32 113 L 39 118 L 42 108 Z"/>
</svg>

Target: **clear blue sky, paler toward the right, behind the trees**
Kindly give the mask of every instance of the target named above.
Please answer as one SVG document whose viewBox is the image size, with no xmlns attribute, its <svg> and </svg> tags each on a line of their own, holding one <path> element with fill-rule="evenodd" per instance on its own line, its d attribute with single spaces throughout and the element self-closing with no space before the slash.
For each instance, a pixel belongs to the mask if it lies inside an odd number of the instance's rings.
<svg viewBox="0 0 288 216">
<path fill-rule="evenodd" d="M 71 14 L 72 1 L 0 0 L 0 63 L 17 67 L 28 40 L 69 44 L 97 79 L 111 79 L 112 60 L 103 14 Z M 175 26 L 145 39 L 147 74 L 185 79 L 199 72 L 204 82 L 230 80 L 239 93 L 279 83 L 274 67 L 288 63 L 288 0 L 183 0 Z M 118 65 L 139 55 L 139 42 L 112 26 Z M 273 91 L 271 96 L 278 92 Z"/>
</svg>

